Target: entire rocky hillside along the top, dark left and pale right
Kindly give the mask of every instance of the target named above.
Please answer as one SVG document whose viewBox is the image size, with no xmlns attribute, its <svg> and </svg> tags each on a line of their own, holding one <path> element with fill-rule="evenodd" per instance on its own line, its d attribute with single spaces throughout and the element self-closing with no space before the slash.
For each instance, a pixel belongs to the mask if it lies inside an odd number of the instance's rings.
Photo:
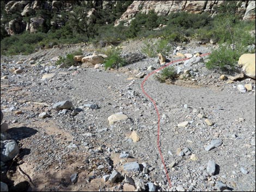
<svg viewBox="0 0 256 192">
<path fill-rule="evenodd" d="M 1 36 L 25 30 L 35 33 L 59 29 L 69 20 L 68 13 L 72 13 L 76 6 L 83 8 L 84 15 L 94 18 L 89 23 L 104 25 L 115 20 L 117 25 L 120 21 L 131 20 L 139 12 L 147 14 L 152 9 L 159 15 L 178 11 L 214 15 L 217 14 L 216 7 L 223 2 L 227 1 L 1 1 Z M 255 1 L 236 2 L 234 9 L 243 20 L 255 18 Z M 96 21 L 102 17 L 106 21 Z"/>
</svg>

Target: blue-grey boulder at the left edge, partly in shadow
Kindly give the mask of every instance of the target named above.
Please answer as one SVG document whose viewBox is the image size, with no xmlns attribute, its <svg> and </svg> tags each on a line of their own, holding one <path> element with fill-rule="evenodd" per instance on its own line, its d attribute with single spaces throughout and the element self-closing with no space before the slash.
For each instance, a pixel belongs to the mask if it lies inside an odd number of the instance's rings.
<svg viewBox="0 0 256 192">
<path fill-rule="evenodd" d="M 8 162 L 19 154 L 20 149 L 14 140 L 1 141 L 1 161 Z"/>
</svg>

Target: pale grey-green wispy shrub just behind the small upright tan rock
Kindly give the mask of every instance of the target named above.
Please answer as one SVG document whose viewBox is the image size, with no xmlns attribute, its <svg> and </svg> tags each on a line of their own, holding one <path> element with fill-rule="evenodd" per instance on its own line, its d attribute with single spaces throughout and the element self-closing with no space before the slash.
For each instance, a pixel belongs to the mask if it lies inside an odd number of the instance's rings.
<svg viewBox="0 0 256 192">
<path fill-rule="evenodd" d="M 172 46 L 166 39 L 159 40 L 155 43 L 151 41 L 144 41 L 144 45 L 145 46 L 142 48 L 142 52 L 148 55 L 148 57 L 156 57 L 159 53 L 166 54 L 170 51 L 170 49 L 172 49 Z"/>
</svg>

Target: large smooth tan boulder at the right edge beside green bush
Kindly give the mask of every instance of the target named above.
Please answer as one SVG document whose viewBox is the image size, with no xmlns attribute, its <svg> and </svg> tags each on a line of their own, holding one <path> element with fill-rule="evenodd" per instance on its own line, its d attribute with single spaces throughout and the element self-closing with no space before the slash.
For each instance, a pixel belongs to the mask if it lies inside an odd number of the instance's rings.
<svg viewBox="0 0 256 192">
<path fill-rule="evenodd" d="M 255 53 L 241 55 L 238 65 L 242 66 L 243 73 L 245 73 L 247 77 L 255 79 Z"/>
</svg>

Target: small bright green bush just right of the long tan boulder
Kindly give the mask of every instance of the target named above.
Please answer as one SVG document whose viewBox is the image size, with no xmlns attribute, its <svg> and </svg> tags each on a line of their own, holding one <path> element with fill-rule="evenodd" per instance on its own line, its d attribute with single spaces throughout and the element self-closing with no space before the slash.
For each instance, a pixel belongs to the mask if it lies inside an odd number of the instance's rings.
<svg viewBox="0 0 256 192">
<path fill-rule="evenodd" d="M 106 54 L 108 57 L 105 60 L 105 70 L 126 65 L 126 61 L 120 57 L 120 51 L 118 49 L 107 49 Z"/>
</svg>

